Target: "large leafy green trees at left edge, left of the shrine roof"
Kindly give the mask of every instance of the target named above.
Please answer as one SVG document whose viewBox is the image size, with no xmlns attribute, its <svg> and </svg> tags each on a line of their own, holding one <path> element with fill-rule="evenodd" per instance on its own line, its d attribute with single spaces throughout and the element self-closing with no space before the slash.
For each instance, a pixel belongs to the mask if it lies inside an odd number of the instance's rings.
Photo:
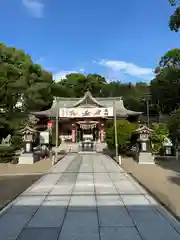
<svg viewBox="0 0 180 240">
<path fill-rule="evenodd" d="M 21 126 L 30 111 L 52 104 L 52 76 L 22 50 L 0 43 L 1 138 Z"/>
</svg>

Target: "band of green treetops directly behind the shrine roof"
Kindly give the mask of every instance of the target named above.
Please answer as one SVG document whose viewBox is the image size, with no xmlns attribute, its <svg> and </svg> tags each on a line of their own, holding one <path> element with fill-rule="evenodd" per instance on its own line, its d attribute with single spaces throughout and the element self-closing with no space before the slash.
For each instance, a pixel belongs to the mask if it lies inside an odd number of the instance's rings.
<svg viewBox="0 0 180 240">
<path fill-rule="evenodd" d="M 123 97 L 127 108 L 144 112 L 146 104 L 141 100 L 150 88 L 142 82 L 135 85 L 120 81 L 107 82 L 97 74 L 85 76 L 79 73 L 68 74 L 65 79 L 52 85 L 52 93 L 57 97 L 82 97 L 87 90 L 94 97 Z"/>
</svg>

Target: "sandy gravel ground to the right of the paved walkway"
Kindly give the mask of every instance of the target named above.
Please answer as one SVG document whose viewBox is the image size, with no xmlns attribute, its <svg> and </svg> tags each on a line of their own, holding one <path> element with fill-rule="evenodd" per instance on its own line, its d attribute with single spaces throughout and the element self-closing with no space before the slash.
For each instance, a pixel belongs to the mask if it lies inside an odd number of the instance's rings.
<svg viewBox="0 0 180 240">
<path fill-rule="evenodd" d="M 124 158 L 122 167 L 180 220 L 180 162 L 142 165 Z"/>
</svg>

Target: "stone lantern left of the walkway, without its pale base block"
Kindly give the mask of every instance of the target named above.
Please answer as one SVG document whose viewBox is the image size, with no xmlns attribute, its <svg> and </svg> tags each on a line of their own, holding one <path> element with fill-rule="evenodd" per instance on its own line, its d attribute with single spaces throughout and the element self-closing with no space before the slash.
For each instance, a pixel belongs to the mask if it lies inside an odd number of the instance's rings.
<svg viewBox="0 0 180 240">
<path fill-rule="evenodd" d="M 23 142 L 25 143 L 24 152 L 32 153 L 32 143 L 35 141 L 36 130 L 28 125 L 20 131 L 23 134 Z"/>
</svg>

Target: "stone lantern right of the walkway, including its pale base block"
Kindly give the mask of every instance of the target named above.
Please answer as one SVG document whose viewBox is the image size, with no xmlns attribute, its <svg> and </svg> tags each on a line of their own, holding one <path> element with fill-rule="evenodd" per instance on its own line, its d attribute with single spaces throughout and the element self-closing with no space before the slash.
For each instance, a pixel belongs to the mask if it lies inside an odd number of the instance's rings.
<svg viewBox="0 0 180 240">
<path fill-rule="evenodd" d="M 154 163 L 154 157 L 150 151 L 150 136 L 154 130 L 148 128 L 146 125 L 142 125 L 135 132 L 139 135 L 139 163 Z"/>
</svg>

